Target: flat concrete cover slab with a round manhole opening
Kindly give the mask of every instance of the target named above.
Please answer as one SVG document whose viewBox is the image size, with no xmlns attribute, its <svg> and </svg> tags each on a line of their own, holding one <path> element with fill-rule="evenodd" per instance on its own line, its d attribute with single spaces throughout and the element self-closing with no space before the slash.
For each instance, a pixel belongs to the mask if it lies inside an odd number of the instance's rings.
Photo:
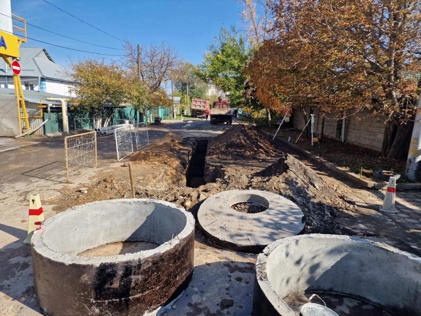
<svg viewBox="0 0 421 316">
<path fill-rule="evenodd" d="M 232 205 L 254 202 L 264 212 L 237 212 Z M 229 190 L 207 198 L 197 220 L 205 237 L 226 249 L 259 253 L 273 241 L 294 236 L 304 228 L 301 209 L 280 195 L 260 190 Z"/>
</svg>

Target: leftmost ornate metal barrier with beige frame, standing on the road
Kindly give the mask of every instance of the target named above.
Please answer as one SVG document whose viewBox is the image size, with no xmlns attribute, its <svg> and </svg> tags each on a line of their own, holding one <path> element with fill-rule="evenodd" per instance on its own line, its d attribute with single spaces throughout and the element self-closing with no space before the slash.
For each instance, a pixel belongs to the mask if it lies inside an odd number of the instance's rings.
<svg viewBox="0 0 421 316">
<path fill-rule="evenodd" d="M 66 153 L 66 177 L 70 182 L 96 168 L 96 132 L 64 137 Z"/>
</svg>

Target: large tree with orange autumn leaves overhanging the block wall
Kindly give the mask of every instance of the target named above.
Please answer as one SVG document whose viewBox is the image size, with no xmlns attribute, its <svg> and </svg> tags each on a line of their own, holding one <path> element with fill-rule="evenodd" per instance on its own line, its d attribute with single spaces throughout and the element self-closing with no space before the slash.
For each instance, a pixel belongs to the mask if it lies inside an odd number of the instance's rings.
<svg viewBox="0 0 421 316">
<path fill-rule="evenodd" d="M 419 93 L 421 1 L 270 0 L 269 8 L 269 38 L 247 67 L 258 101 L 371 109 L 388 124 L 383 154 L 404 158 Z"/>
</svg>

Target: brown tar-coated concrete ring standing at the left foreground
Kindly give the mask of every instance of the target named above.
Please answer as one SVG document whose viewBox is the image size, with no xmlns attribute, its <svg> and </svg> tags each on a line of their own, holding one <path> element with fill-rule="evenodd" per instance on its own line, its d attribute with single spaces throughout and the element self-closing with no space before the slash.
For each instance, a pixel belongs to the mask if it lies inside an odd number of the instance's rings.
<svg viewBox="0 0 421 316">
<path fill-rule="evenodd" d="M 39 305 L 50 316 L 154 315 L 188 286 L 195 220 L 174 204 L 117 199 L 75 206 L 32 237 Z M 120 241 L 160 244 L 112 257 L 76 254 Z"/>
</svg>

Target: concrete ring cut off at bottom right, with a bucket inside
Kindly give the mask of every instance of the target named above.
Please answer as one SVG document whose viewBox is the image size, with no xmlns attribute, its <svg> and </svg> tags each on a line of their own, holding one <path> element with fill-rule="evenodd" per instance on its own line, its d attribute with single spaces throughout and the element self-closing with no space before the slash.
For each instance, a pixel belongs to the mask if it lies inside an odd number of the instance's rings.
<svg viewBox="0 0 421 316">
<path fill-rule="evenodd" d="M 421 258 L 361 238 L 310 234 L 280 239 L 256 262 L 253 316 L 298 316 L 291 294 L 340 294 L 396 315 L 421 311 Z"/>
</svg>

